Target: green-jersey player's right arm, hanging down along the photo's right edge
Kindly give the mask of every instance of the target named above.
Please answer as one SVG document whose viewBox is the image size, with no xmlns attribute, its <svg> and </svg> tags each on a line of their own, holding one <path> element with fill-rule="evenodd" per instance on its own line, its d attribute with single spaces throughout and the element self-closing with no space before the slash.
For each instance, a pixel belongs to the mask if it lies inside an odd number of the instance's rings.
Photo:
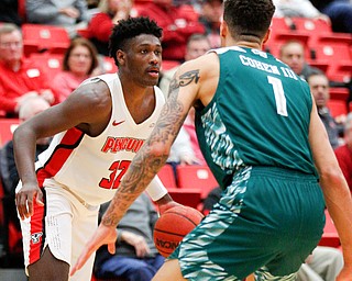
<svg viewBox="0 0 352 281">
<path fill-rule="evenodd" d="M 343 249 L 344 268 L 337 280 L 350 280 L 352 277 L 351 192 L 329 143 L 323 124 L 317 114 L 315 103 L 310 119 L 309 143 L 320 176 L 326 204 L 339 233 Z"/>
</svg>

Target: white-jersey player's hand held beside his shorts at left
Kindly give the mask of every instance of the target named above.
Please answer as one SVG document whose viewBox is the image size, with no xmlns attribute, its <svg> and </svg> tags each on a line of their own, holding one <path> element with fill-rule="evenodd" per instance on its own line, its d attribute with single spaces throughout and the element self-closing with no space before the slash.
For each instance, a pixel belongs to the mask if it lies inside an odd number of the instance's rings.
<svg viewBox="0 0 352 281">
<path fill-rule="evenodd" d="M 26 184 L 15 194 L 15 205 L 21 220 L 30 217 L 34 214 L 34 204 L 44 206 L 43 192 L 33 184 Z"/>
</svg>

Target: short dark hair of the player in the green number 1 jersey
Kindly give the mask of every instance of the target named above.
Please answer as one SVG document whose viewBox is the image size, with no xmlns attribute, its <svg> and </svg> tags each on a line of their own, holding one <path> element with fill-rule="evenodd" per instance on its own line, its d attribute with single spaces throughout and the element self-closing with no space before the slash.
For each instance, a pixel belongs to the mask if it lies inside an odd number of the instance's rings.
<svg viewBox="0 0 352 281">
<path fill-rule="evenodd" d="M 275 12 L 272 0 L 227 0 L 223 8 L 223 20 L 232 37 L 252 35 L 263 38 Z"/>
</svg>

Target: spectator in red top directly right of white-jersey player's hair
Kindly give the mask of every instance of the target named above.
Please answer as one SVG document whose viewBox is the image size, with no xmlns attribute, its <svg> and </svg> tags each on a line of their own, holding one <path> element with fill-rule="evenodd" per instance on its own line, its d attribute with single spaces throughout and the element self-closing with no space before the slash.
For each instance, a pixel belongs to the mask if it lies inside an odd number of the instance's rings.
<svg viewBox="0 0 352 281">
<path fill-rule="evenodd" d="M 148 16 L 163 29 L 163 59 L 183 61 L 186 44 L 194 33 L 205 33 L 205 27 L 182 7 L 173 5 L 173 0 L 153 0 L 138 9 L 140 16 Z"/>
</svg>

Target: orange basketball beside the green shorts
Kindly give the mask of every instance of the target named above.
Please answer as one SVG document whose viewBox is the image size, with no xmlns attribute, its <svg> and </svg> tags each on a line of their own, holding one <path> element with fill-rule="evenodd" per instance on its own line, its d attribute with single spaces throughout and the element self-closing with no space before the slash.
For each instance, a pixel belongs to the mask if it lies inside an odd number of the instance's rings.
<svg viewBox="0 0 352 281">
<path fill-rule="evenodd" d="M 204 218 L 204 215 L 190 206 L 174 206 L 164 212 L 154 227 L 154 244 L 158 252 L 168 257 Z"/>
</svg>

